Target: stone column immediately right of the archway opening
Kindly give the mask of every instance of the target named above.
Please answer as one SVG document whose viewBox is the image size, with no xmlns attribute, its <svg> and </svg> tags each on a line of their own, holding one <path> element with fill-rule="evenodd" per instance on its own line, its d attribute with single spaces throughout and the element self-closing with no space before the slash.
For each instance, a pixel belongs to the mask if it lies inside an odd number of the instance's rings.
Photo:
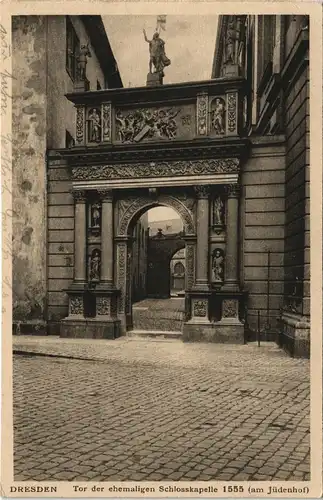
<svg viewBox="0 0 323 500">
<path fill-rule="evenodd" d="M 196 186 L 197 194 L 197 246 L 196 246 L 196 288 L 209 289 L 209 188 Z"/>
</svg>

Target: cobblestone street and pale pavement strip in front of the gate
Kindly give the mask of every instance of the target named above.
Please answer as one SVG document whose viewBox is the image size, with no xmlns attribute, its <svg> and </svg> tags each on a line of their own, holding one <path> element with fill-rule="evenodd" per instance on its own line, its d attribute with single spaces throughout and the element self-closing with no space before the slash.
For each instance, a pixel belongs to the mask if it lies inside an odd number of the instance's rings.
<svg viewBox="0 0 323 500">
<path fill-rule="evenodd" d="M 309 479 L 309 363 L 274 344 L 14 348 L 30 353 L 14 356 L 17 481 Z"/>
</svg>

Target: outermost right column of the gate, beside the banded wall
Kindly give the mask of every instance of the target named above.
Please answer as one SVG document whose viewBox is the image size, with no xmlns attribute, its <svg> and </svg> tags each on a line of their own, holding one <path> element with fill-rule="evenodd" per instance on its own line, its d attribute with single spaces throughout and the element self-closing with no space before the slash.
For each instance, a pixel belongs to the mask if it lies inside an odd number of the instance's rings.
<svg viewBox="0 0 323 500">
<path fill-rule="evenodd" d="M 224 268 L 224 289 L 238 291 L 238 234 L 239 234 L 239 192 L 238 184 L 226 186 L 226 254 Z"/>
</svg>

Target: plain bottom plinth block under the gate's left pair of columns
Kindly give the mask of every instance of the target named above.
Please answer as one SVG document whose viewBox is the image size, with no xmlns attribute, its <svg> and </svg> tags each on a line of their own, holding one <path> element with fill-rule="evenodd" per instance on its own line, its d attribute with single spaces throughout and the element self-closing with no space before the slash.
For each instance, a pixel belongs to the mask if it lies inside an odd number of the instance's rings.
<svg viewBox="0 0 323 500">
<path fill-rule="evenodd" d="M 68 317 L 60 323 L 61 338 L 116 339 L 120 337 L 119 320 Z"/>
</svg>

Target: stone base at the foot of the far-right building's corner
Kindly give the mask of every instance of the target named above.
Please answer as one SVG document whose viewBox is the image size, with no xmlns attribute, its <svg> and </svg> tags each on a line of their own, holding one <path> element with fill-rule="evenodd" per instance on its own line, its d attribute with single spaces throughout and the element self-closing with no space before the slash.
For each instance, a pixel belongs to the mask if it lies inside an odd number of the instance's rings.
<svg viewBox="0 0 323 500">
<path fill-rule="evenodd" d="M 278 344 L 295 358 L 310 357 L 310 319 L 300 314 L 283 312 Z"/>
</svg>

